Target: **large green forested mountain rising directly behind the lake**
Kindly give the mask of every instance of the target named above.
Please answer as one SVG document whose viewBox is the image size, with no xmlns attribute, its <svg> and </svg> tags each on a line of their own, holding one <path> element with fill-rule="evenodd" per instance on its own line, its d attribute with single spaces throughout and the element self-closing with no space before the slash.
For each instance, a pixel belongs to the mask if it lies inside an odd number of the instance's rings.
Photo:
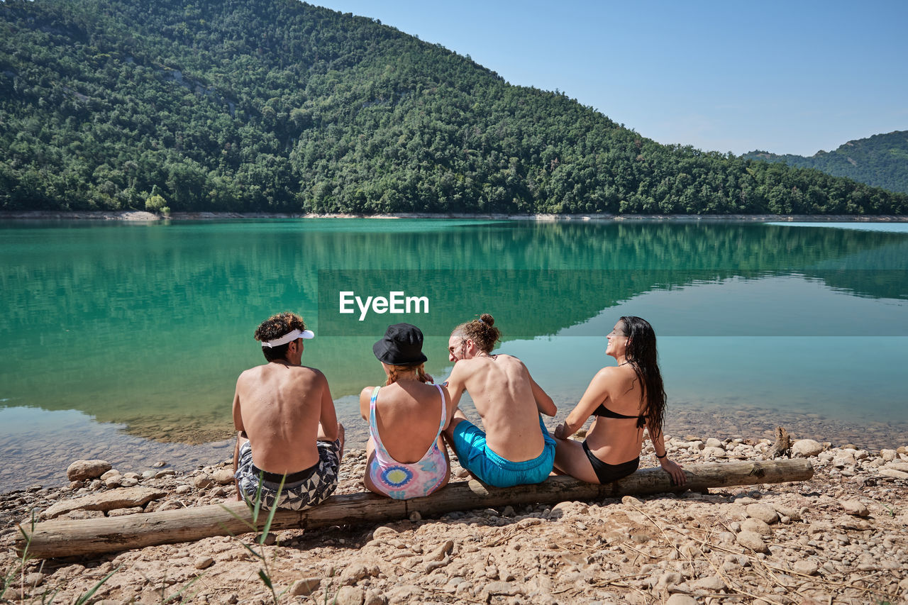
<svg viewBox="0 0 908 605">
<path fill-rule="evenodd" d="M 905 213 L 297 0 L 0 4 L 0 208 Z"/>
</svg>

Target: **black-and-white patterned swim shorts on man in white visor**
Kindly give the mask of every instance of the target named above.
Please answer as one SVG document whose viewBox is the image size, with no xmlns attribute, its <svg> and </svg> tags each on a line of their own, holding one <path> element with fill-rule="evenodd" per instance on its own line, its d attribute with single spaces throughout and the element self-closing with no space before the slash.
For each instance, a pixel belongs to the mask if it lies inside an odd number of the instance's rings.
<svg viewBox="0 0 908 605">
<path fill-rule="evenodd" d="M 306 471 L 290 475 L 293 481 L 284 482 L 280 497 L 278 488 L 281 487 L 281 481 L 270 481 L 275 479 L 273 476 L 262 479 L 263 509 L 271 510 L 277 506 L 279 509 L 302 511 L 321 503 L 334 492 L 338 486 L 338 471 L 341 466 L 341 440 L 318 441 L 316 445 L 319 448 L 319 461 Z M 262 471 L 252 464 L 252 446 L 246 441 L 240 447 L 240 461 L 235 477 L 243 498 L 250 503 L 255 502 L 261 474 Z"/>
</svg>

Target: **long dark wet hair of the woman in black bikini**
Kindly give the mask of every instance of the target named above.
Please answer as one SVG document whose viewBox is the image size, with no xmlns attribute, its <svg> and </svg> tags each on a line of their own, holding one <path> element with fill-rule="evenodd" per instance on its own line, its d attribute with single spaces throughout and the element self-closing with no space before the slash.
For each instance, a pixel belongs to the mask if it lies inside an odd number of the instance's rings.
<svg viewBox="0 0 908 605">
<path fill-rule="evenodd" d="M 627 349 L 625 357 L 637 379 L 643 386 L 640 392 L 640 402 L 646 397 L 646 427 L 650 433 L 662 431 L 662 421 L 666 412 L 666 390 L 662 384 L 662 374 L 659 372 L 659 362 L 656 353 L 656 332 L 653 326 L 645 319 L 634 315 L 625 315 L 620 318 L 627 336 Z M 639 424 L 637 424 L 639 426 Z"/>
</svg>

